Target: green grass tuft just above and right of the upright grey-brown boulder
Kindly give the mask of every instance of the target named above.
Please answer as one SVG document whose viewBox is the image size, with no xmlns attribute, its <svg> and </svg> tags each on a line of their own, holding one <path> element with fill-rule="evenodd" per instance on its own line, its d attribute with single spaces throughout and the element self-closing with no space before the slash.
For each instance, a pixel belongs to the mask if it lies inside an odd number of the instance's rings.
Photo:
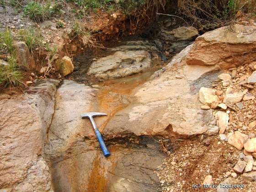
<svg viewBox="0 0 256 192">
<path fill-rule="evenodd" d="M 41 48 L 43 46 L 43 36 L 32 27 L 20 29 L 17 34 L 17 39 L 25 42 L 31 53 L 34 48 Z"/>
</svg>

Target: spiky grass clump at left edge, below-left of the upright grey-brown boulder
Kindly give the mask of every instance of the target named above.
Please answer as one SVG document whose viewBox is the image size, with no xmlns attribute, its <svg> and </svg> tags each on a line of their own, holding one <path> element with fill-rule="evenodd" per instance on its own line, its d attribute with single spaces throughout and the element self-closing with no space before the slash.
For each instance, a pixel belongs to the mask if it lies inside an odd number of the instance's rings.
<svg viewBox="0 0 256 192">
<path fill-rule="evenodd" d="M 14 54 L 7 60 L 8 65 L 0 65 L 0 88 L 22 84 L 22 73 Z"/>
</svg>

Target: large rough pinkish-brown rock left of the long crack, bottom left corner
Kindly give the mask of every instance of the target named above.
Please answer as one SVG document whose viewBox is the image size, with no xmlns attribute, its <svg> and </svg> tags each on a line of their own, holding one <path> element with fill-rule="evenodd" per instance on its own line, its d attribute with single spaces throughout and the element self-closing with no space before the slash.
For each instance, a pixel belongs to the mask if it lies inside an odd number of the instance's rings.
<svg viewBox="0 0 256 192">
<path fill-rule="evenodd" d="M 54 113 L 58 80 L 39 80 L 24 95 L 0 100 L 0 188 L 49 191 L 51 176 L 43 159 L 47 128 Z"/>
</svg>

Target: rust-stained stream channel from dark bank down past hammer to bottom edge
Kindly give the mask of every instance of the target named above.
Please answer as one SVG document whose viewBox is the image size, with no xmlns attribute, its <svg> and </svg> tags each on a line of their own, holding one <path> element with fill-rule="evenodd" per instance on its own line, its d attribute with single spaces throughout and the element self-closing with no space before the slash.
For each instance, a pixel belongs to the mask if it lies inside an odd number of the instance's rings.
<svg viewBox="0 0 256 192">
<path fill-rule="evenodd" d="M 168 27 L 162 29 L 161 25 Z M 179 40 L 171 33 L 163 33 L 181 26 L 176 21 L 162 20 L 155 26 L 102 49 L 97 56 L 83 53 L 74 58 L 74 81 L 64 80 L 56 93 L 45 147 L 55 192 L 161 191 L 156 170 L 166 154 L 158 142 L 160 136 L 103 133 L 109 120 L 133 103 L 136 89 L 192 43 L 191 37 Z M 152 31 L 153 35 L 149 34 Z M 112 64 L 120 65 L 117 68 Z M 91 76 L 96 80 L 89 80 Z M 102 155 L 89 120 L 79 116 L 93 111 L 108 114 L 95 118 L 111 152 L 107 158 Z M 170 142 L 168 138 L 165 141 Z M 170 145 L 168 150 L 172 150 Z"/>
</svg>

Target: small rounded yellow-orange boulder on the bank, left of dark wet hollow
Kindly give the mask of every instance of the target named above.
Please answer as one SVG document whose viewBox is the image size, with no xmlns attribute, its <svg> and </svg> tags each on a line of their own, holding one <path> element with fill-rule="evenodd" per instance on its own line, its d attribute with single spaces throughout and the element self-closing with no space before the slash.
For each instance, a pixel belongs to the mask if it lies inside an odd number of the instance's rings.
<svg viewBox="0 0 256 192">
<path fill-rule="evenodd" d="M 74 70 L 74 65 L 68 56 L 64 56 L 61 59 L 55 61 L 55 69 L 61 70 L 64 76 L 69 75 Z"/>
</svg>

